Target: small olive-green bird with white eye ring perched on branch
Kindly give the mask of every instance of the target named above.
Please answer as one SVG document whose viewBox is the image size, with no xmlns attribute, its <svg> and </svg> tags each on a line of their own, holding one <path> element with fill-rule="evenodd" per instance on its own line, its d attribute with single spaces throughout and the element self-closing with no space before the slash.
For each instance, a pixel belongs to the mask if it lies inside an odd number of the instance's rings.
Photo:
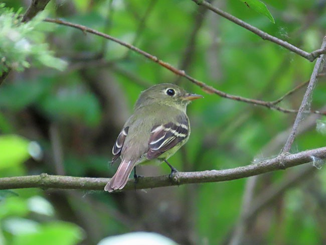
<svg viewBox="0 0 326 245">
<path fill-rule="evenodd" d="M 122 189 L 133 168 L 138 164 L 161 163 L 177 170 L 167 159 L 189 139 L 190 125 L 187 105 L 202 95 L 191 94 L 183 88 L 161 83 L 141 92 L 134 112 L 125 122 L 112 149 L 112 162 L 121 157 L 121 163 L 104 190 Z M 137 175 L 134 174 L 137 178 Z"/>
</svg>

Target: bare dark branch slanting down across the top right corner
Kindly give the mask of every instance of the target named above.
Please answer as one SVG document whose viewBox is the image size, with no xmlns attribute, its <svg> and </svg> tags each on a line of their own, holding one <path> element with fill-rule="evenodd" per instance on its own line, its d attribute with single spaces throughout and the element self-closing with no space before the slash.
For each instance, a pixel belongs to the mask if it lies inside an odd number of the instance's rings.
<svg viewBox="0 0 326 245">
<path fill-rule="evenodd" d="M 254 34 L 258 35 L 259 37 L 261 37 L 262 39 L 264 40 L 268 40 L 268 41 L 271 41 L 273 43 L 276 43 L 300 56 L 302 56 L 303 58 L 309 60 L 309 61 L 314 61 L 317 57 L 319 57 L 319 55 L 321 54 L 324 54 L 326 53 L 326 49 L 325 48 L 320 48 L 320 49 L 317 49 L 311 53 L 308 53 L 302 49 L 299 49 L 298 47 L 292 45 L 292 44 L 289 44 L 288 42 L 286 41 L 283 41 L 281 39 L 278 39 L 272 35 L 269 35 L 268 33 L 266 32 L 263 32 L 261 31 L 260 29 L 254 27 L 254 26 L 251 26 L 249 25 L 248 23 L 234 17 L 233 15 L 230 15 L 229 13 L 226 13 L 216 7 L 214 7 L 213 5 L 211 5 L 210 3 L 208 3 L 207 1 L 205 0 L 192 0 L 193 2 L 195 2 L 197 5 L 200 5 L 200 6 L 204 6 L 206 7 L 207 9 L 213 11 L 214 13 L 224 17 L 225 19 L 228 19 L 229 21 L 253 32 Z"/>
</svg>

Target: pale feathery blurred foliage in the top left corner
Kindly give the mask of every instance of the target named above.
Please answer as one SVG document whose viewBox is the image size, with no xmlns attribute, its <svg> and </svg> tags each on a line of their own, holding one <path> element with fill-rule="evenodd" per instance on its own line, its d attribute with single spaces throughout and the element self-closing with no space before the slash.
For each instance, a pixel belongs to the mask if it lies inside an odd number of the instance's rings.
<svg viewBox="0 0 326 245">
<path fill-rule="evenodd" d="M 35 65 L 42 64 L 63 70 L 66 62 L 53 57 L 44 41 L 46 30 L 40 28 L 46 12 L 22 24 L 21 10 L 14 13 L 13 9 L 5 8 L 5 4 L 0 4 L 0 57 L 2 57 L 0 75 L 8 71 L 8 67 L 17 71 L 29 68 L 28 59 L 31 59 Z"/>
</svg>

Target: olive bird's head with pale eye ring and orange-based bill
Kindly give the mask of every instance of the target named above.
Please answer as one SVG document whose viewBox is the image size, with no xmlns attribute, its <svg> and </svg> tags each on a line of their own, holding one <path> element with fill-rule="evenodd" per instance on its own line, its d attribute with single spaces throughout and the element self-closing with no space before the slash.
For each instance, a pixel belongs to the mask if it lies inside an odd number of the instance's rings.
<svg viewBox="0 0 326 245">
<path fill-rule="evenodd" d="M 185 89 L 171 83 L 160 83 L 142 91 L 135 109 L 152 103 L 164 104 L 186 110 L 187 105 L 194 99 L 203 98 L 202 95 L 192 94 Z"/>
</svg>

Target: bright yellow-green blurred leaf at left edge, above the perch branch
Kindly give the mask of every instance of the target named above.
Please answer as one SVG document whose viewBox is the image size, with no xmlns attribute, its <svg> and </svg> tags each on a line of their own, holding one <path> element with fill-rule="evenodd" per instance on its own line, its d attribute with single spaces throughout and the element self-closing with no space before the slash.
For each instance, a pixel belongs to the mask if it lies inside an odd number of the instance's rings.
<svg viewBox="0 0 326 245">
<path fill-rule="evenodd" d="M 0 136 L 0 169 L 16 166 L 26 161 L 29 141 L 17 135 Z"/>
</svg>

